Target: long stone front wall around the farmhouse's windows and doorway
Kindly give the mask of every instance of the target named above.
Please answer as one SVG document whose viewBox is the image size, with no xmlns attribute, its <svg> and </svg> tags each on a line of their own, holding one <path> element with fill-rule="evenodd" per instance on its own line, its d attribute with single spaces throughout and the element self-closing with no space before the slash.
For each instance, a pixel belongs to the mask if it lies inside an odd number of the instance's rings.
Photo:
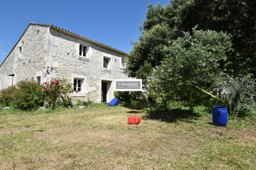
<svg viewBox="0 0 256 170">
<path fill-rule="evenodd" d="M 79 56 L 80 44 L 88 48 L 86 57 Z M 65 78 L 72 83 L 74 78 L 84 80 L 82 92 L 71 94 L 74 99 L 101 102 L 102 81 L 106 81 L 109 84 L 107 101 L 110 101 L 114 97 L 113 80 L 128 78 L 121 68 L 122 57 L 126 56 L 54 29 L 50 29 L 49 51 L 55 77 Z M 104 57 L 110 59 L 109 69 L 103 68 Z"/>
</svg>

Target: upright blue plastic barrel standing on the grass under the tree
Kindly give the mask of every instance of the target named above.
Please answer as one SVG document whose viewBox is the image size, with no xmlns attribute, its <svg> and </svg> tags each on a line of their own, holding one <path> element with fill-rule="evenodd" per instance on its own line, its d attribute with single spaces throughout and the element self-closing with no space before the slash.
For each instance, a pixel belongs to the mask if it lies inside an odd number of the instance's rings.
<svg viewBox="0 0 256 170">
<path fill-rule="evenodd" d="M 213 107 L 213 124 L 216 126 L 227 126 L 227 107 Z"/>
</svg>

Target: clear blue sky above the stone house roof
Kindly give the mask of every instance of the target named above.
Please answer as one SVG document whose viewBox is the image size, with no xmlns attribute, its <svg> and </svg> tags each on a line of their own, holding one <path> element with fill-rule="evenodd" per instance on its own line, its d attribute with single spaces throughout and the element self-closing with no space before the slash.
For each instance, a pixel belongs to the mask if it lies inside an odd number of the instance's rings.
<svg viewBox="0 0 256 170">
<path fill-rule="evenodd" d="M 141 35 L 147 5 L 168 0 L 1 0 L 0 63 L 29 22 L 50 24 L 129 53 Z"/>
</svg>

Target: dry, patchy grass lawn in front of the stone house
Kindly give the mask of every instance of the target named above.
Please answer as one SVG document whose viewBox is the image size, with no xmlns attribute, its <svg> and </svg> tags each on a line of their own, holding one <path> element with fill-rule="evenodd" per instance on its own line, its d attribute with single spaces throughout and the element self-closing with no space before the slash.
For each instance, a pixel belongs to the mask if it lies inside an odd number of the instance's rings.
<svg viewBox="0 0 256 170">
<path fill-rule="evenodd" d="M 222 128 L 210 113 L 168 123 L 102 104 L 0 112 L 0 169 L 254 169 L 255 141 L 254 120 Z"/>
</svg>

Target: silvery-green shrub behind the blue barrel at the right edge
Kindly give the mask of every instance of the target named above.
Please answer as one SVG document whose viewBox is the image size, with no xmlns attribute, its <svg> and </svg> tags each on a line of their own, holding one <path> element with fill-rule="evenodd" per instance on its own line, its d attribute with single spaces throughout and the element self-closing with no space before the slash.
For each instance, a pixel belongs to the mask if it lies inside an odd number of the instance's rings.
<svg viewBox="0 0 256 170">
<path fill-rule="evenodd" d="M 256 82 L 250 74 L 233 77 L 223 75 L 214 83 L 215 91 L 235 117 L 251 117 L 256 113 Z"/>
</svg>

